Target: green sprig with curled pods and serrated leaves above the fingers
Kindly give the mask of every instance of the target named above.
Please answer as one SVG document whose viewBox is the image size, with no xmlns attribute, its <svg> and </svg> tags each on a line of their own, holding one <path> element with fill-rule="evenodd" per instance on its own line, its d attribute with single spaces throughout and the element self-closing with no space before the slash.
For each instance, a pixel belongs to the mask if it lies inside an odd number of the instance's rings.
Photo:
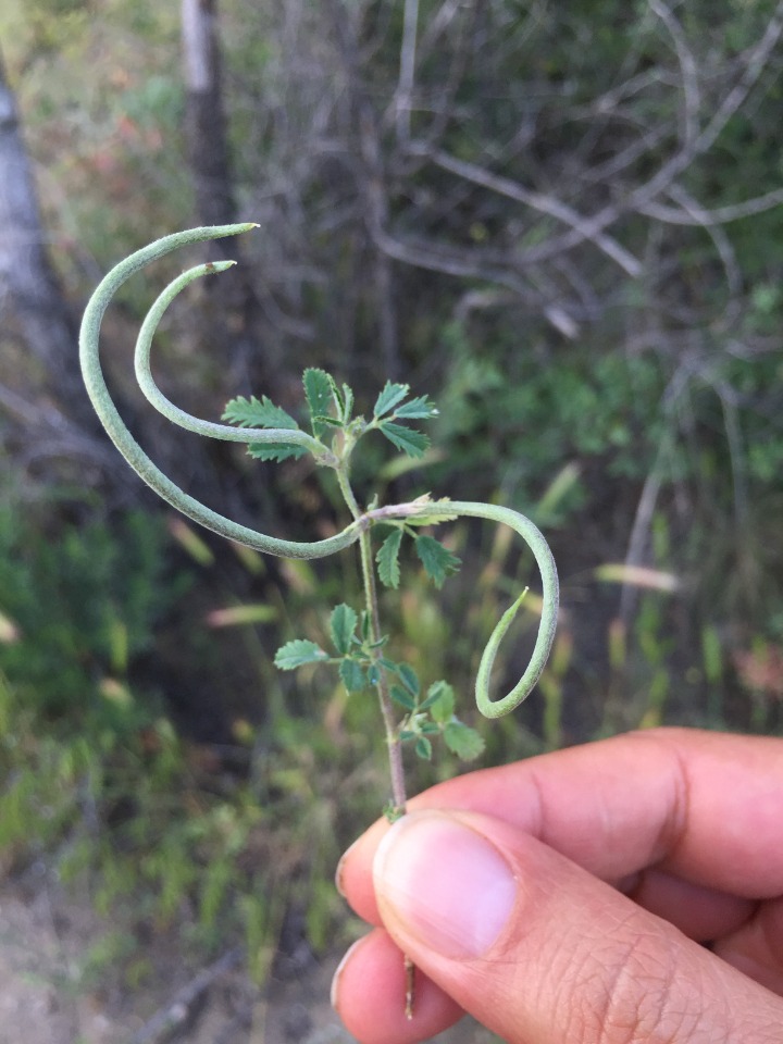
<svg viewBox="0 0 783 1044">
<path fill-rule="evenodd" d="M 322 558 L 353 544 L 359 545 L 365 600 L 362 612 L 346 605 L 333 610 L 330 619 L 333 652 L 307 638 L 296 638 L 277 651 L 275 662 L 283 670 L 308 663 L 332 663 L 337 667 L 350 693 L 376 689 L 389 750 L 391 813 L 398 816 L 406 806 L 403 744 L 412 744 L 420 757 L 428 758 L 432 739 L 440 736 L 457 755 L 470 758 L 480 753 L 481 737 L 456 717 L 453 689 L 446 682 L 434 681 L 424 692 L 410 664 L 386 656 L 388 639 L 381 631 L 376 579 L 385 586 L 399 586 L 399 554 L 406 537 L 413 540 L 421 566 L 436 586 L 442 586 L 459 569 L 457 556 L 431 534 L 422 533 L 422 526 L 469 517 L 509 525 L 522 536 L 542 574 L 542 619 L 527 669 L 511 692 L 496 700 L 489 695 L 493 664 L 524 593 L 504 613 L 487 642 L 476 675 L 476 704 L 486 717 L 497 718 L 508 713 L 529 695 L 544 670 L 557 624 L 557 570 L 538 529 L 509 508 L 472 501 L 433 500 L 428 495 L 405 504 L 372 505 L 364 509 L 359 506 L 350 484 L 350 462 L 361 438 L 377 432 L 395 449 L 413 459 L 421 458 L 430 446 L 427 435 L 411 422 L 431 420 L 437 415 L 437 410 L 426 396 L 411 397 L 407 384 L 387 381 L 375 400 L 372 415 L 364 418 L 355 413 L 355 396 L 346 384 L 338 385 L 323 370 L 306 370 L 303 390 L 309 432 L 265 396 L 232 399 L 223 415 L 223 420 L 229 422 L 227 424 L 192 417 L 166 399 L 156 385 L 150 369 L 152 337 L 163 313 L 189 283 L 224 271 L 233 261 L 210 262 L 189 269 L 154 301 L 136 344 L 135 368 L 139 386 L 152 406 L 172 423 L 200 435 L 245 443 L 251 456 L 258 459 L 281 461 L 310 453 L 315 464 L 334 470 L 351 521 L 339 533 L 322 540 L 274 537 L 208 508 L 181 489 L 153 463 L 120 417 L 103 378 L 99 337 L 105 309 L 123 283 L 151 261 L 189 244 L 237 235 L 253 227 L 258 226 L 223 225 L 176 233 L 136 251 L 112 269 L 90 298 L 82 322 L 79 358 L 84 381 L 103 426 L 130 467 L 161 497 L 194 521 L 239 544 L 282 557 Z M 372 537 L 378 526 L 383 527 L 385 536 L 374 551 Z"/>
</svg>

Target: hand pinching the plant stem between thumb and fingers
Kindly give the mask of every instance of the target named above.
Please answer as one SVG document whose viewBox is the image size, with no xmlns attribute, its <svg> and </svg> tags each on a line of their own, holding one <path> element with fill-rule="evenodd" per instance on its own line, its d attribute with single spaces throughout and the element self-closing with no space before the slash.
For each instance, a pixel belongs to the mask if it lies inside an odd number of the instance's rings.
<svg viewBox="0 0 783 1044">
<path fill-rule="evenodd" d="M 656 730 L 458 776 L 338 886 L 377 925 L 333 989 L 361 1044 L 465 1011 L 508 1044 L 783 1041 L 781 739 Z"/>
</svg>

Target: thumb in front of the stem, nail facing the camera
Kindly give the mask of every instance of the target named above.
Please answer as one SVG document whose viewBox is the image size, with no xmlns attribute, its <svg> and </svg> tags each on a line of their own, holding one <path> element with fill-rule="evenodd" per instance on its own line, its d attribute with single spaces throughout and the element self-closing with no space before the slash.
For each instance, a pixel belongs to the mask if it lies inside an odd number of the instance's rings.
<svg viewBox="0 0 783 1044">
<path fill-rule="evenodd" d="M 397 945 L 508 1044 L 780 1041 L 779 997 L 508 823 L 412 812 L 373 877 Z"/>
</svg>

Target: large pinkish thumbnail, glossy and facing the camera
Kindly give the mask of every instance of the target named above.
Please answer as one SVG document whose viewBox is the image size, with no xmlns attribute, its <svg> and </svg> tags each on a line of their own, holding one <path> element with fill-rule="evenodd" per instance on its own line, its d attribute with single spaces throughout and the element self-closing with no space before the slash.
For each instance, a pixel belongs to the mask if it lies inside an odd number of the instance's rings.
<svg viewBox="0 0 783 1044">
<path fill-rule="evenodd" d="M 412 812 L 395 823 L 377 849 L 373 877 L 387 927 L 448 958 L 486 953 L 517 898 L 505 856 L 446 812 Z"/>
</svg>

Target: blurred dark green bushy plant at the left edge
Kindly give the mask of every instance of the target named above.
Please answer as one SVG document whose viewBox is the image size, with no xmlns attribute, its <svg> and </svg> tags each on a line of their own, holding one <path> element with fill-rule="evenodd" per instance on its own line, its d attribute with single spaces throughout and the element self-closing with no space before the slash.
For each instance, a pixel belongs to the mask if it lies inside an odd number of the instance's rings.
<svg viewBox="0 0 783 1044">
<path fill-rule="evenodd" d="M 114 531 L 91 522 L 54 538 L 25 525 L 18 509 L 0 513 L 0 613 L 17 629 L 0 643 L 0 671 L 25 701 L 115 728 L 144 720 L 124 680 L 187 584 L 165 576 L 164 540 L 162 523 L 140 512 Z"/>
</svg>

